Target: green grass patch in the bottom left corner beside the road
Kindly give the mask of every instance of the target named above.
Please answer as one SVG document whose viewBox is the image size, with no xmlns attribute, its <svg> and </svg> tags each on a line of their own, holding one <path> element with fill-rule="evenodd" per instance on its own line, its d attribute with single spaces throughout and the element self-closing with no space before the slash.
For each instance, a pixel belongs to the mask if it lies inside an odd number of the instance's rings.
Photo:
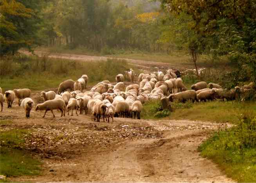
<svg viewBox="0 0 256 183">
<path fill-rule="evenodd" d="M 1 124 L 8 123 L 6 120 Z M 1 131 L 0 174 L 8 177 L 39 175 L 41 162 L 23 149 L 25 129 Z M 5 181 L 5 180 L 4 180 Z"/>
</svg>

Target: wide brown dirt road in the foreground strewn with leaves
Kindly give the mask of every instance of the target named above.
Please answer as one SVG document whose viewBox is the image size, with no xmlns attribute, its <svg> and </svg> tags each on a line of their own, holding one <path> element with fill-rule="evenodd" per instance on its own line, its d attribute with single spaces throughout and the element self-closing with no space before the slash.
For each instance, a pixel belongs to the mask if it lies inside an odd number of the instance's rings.
<svg viewBox="0 0 256 183">
<path fill-rule="evenodd" d="M 32 98 L 40 102 L 39 93 Z M 13 123 L 0 129 L 31 131 L 25 148 L 43 162 L 40 176 L 11 181 L 232 181 L 197 151 L 218 124 L 127 118 L 106 123 L 54 113 L 56 118 L 50 112 L 42 118 L 43 111 L 33 110 L 27 120 L 21 107 L 4 104 L 0 119 Z"/>
</svg>

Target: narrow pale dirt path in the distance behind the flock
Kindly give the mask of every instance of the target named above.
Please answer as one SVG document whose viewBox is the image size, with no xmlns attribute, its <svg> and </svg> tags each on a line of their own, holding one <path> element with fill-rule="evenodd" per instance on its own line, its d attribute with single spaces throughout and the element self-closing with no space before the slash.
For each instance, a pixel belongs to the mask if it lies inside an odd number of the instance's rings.
<svg viewBox="0 0 256 183">
<path fill-rule="evenodd" d="M 20 50 L 21 53 L 26 55 L 31 55 L 31 52 Z M 164 62 L 152 62 L 152 61 L 143 61 L 143 60 L 135 60 L 135 59 L 127 59 L 127 58 L 117 58 L 117 57 L 104 57 L 104 56 L 88 56 L 88 55 L 79 55 L 79 54 L 53 54 L 41 51 L 34 51 L 34 54 L 38 56 L 48 56 L 50 58 L 63 58 L 63 59 L 71 59 L 71 60 L 79 60 L 79 61 L 106 61 L 107 59 L 124 59 L 131 63 L 132 65 L 137 66 L 138 68 L 143 67 L 144 69 L 168 69 L 170 67 L 177 67 L 183 68 L 180 64 L 177 63 L 164 63 Z M 187 67 L 187 66 L 186 66 Z"/>
</svg>

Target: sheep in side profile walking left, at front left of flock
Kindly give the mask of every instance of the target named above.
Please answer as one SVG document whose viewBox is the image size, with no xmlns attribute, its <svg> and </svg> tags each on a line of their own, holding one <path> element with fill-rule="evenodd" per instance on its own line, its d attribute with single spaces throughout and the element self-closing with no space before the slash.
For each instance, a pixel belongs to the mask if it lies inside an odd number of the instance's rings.
<svg viewBox="0 0 256 183">
<path fill-rule="evenodd" d="M 43 118 L 45 117 L 45 114 L 47 113 L 47 111 L 51 111 L 53 117 L 55 117 L 55 115 L 52 111 L 54 109 L 59 109 L 61 111 L 61 117 L 63 116 L 63 114 L 65 116 L 65 108 L 66 108 L 65 102 L 64 102 L 64 100 L 61 100 L 61 99 L 47 100 L 47 101 L 43 102 L 43 104 L 37 104 L 36 105 L 36 111 L 45 110 Z"/>
</svg>

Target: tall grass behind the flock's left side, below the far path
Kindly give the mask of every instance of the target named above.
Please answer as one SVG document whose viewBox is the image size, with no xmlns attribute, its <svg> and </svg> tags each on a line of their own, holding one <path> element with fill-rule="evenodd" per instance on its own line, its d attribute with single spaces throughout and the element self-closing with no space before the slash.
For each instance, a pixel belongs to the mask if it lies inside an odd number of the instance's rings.
<svg viewBox="0 0 256 183">
<path fill-rule="evenodd" d="M 103 80 L 115 81 L 115 75 L 124 74 L 129 68 L 133 66 L 120 59 L 82 62 L 23 55 L 5 57 L 0 63 L 0 86 L 5 91 L 14 88 L 58 88 L 59 83 L 66 79 L 76 81 L 83 74 L 88 75 L 88 84 L 91 85 Z M 136 68 L 133 69 L 137 71 Z"/>
</svg>

